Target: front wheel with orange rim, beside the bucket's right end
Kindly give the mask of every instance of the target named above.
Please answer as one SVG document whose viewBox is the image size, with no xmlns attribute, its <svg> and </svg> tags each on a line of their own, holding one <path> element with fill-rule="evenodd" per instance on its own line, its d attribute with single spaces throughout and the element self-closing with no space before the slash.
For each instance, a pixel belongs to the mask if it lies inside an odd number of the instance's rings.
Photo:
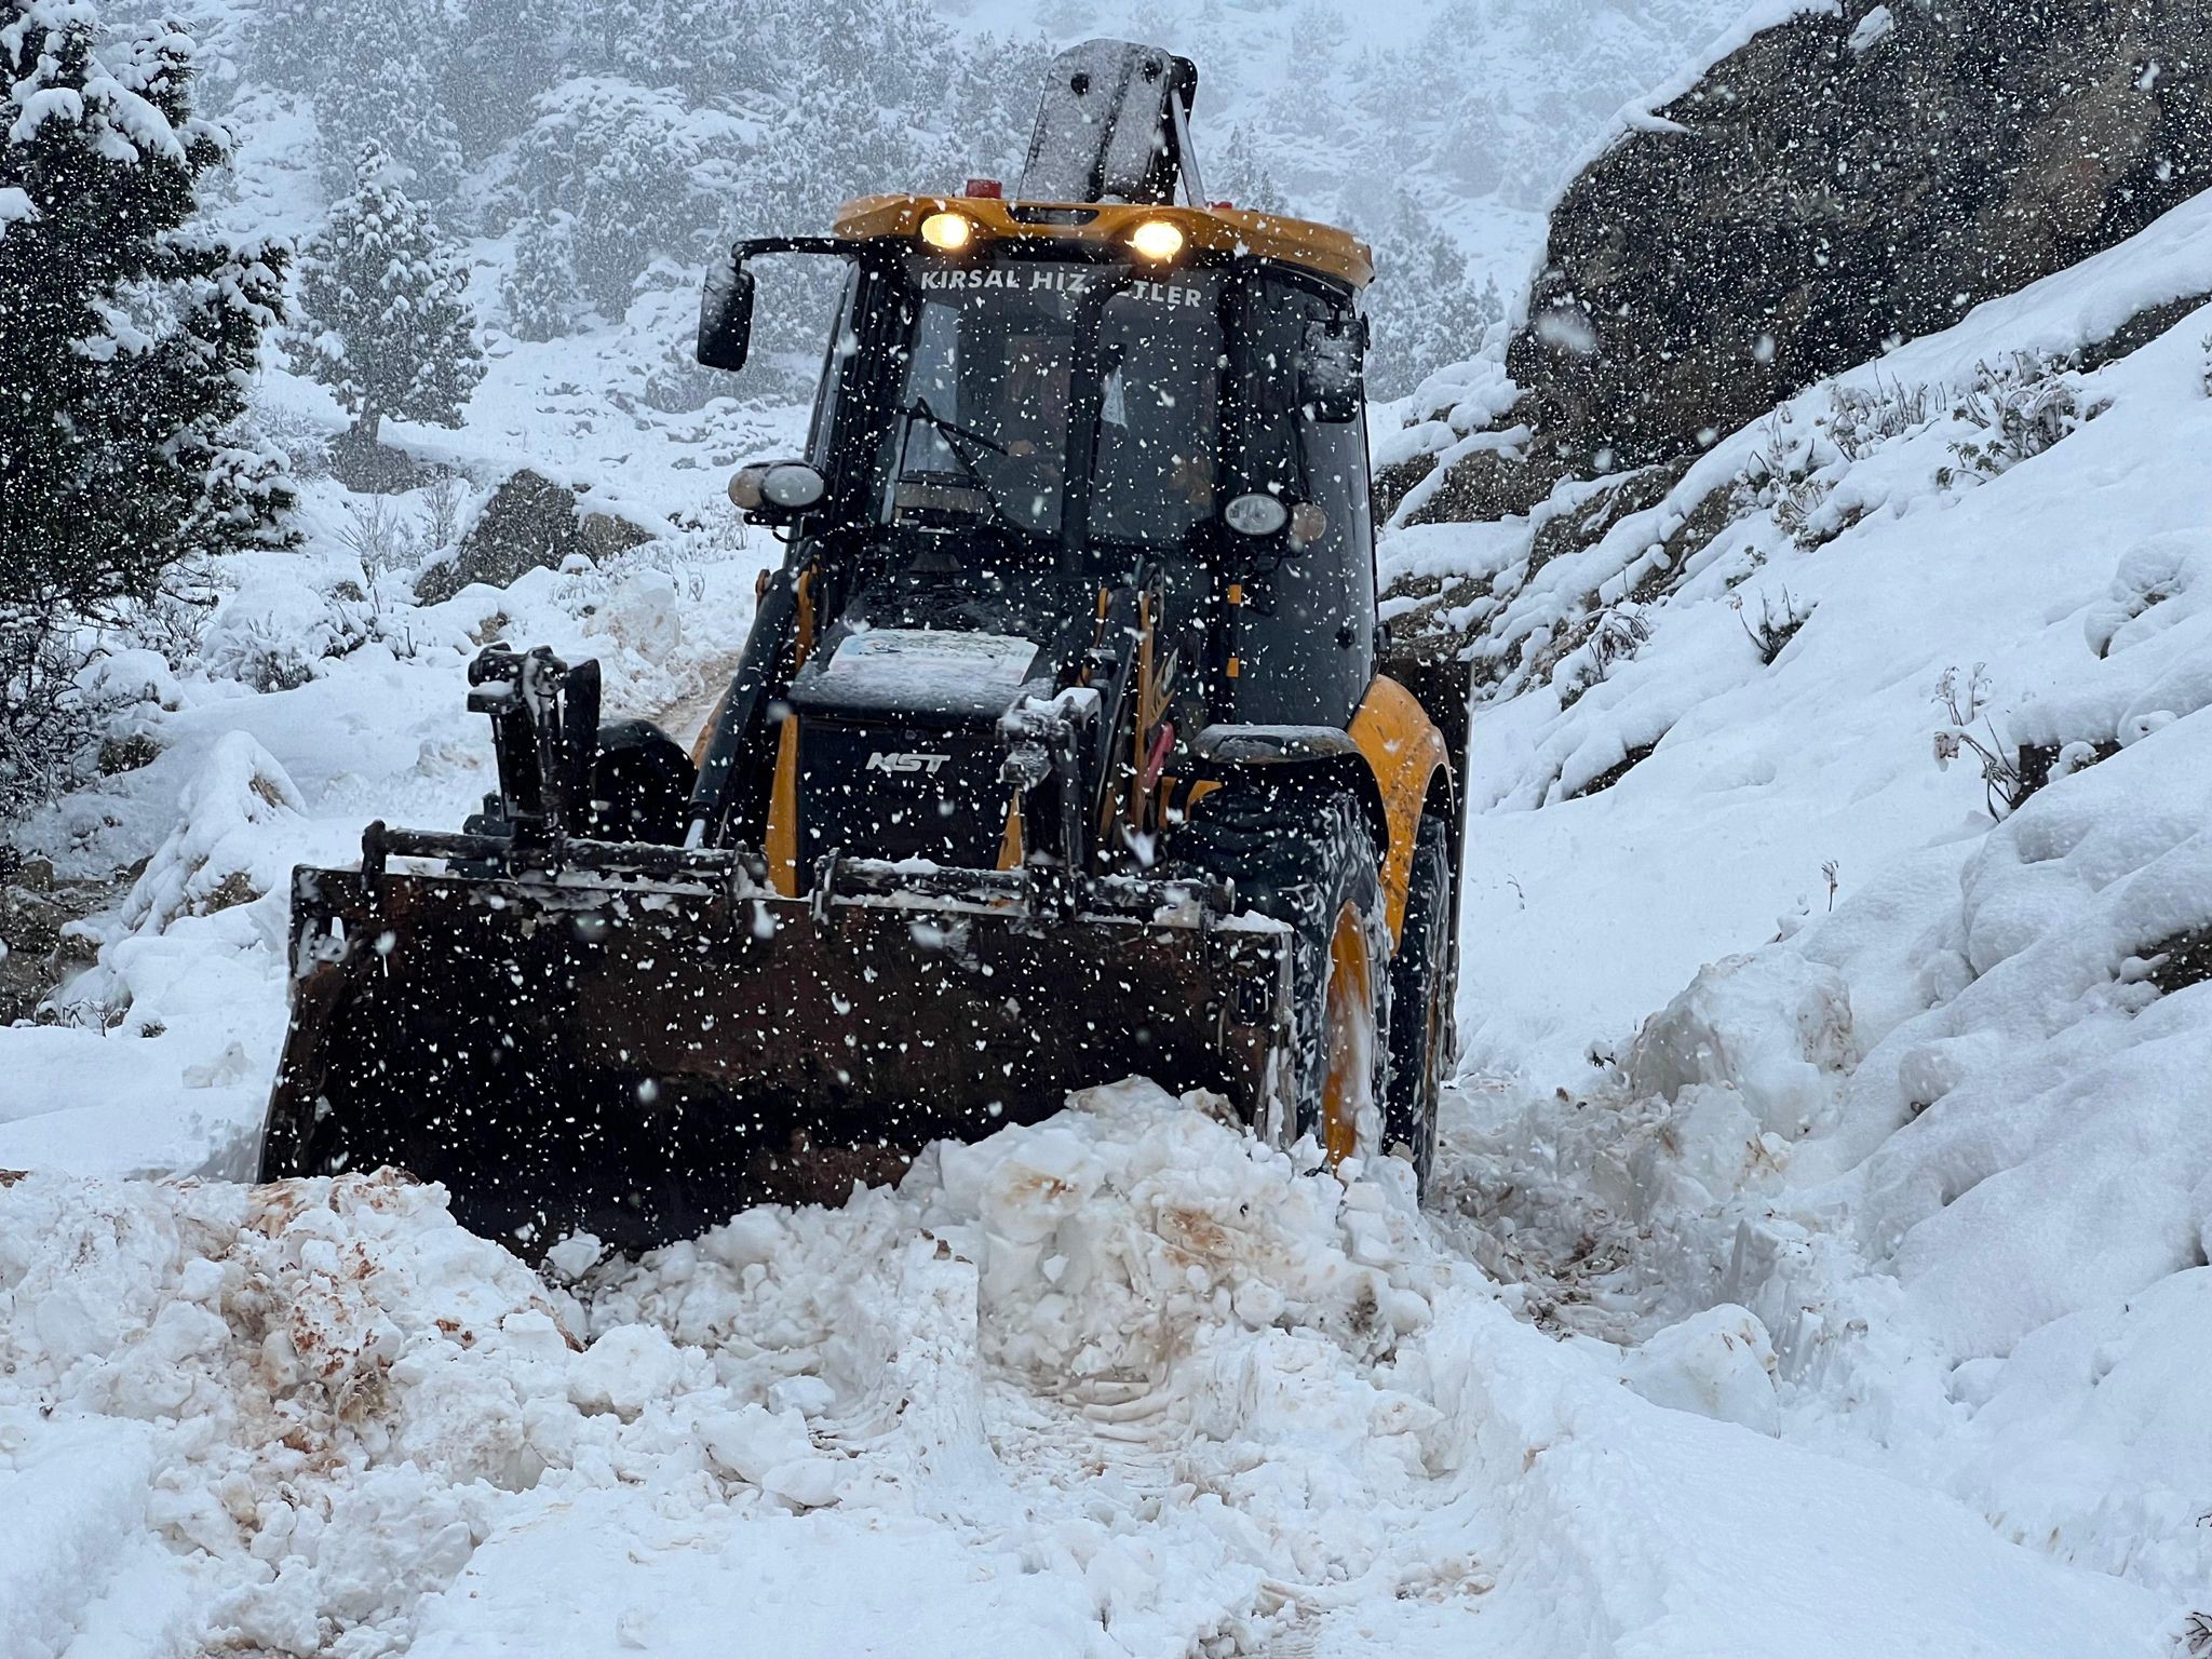
<svg viewBox="0 0 2212 1659">
<path fill-rule="evenodd" d="M 1168 849 L 1292 929 L 1294 1044 L 1281 1146 L 1312 1135 L 1329 1164 L 1380 1150 L 1389 931 L 1374 838 L 1354 796 L 1316 787 L 1219 790 Z M 1287 1121 L 1281 1121 L 1287 1117 Z"/>
</svg>

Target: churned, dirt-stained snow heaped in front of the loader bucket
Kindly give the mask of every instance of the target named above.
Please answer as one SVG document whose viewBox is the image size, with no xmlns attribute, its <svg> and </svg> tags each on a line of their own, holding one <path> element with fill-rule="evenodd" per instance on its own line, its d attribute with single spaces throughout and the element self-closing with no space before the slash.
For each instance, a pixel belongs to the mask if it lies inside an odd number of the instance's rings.
<svg viewBox="0 0 2212 1659">
<path fill-rule="evenodd" d="M 2157 1650 L 1513 1301 L 1141 1084 L 573 1290 L 389 1177 L 27 1177 L 0 1655 Z"/>
</svg>

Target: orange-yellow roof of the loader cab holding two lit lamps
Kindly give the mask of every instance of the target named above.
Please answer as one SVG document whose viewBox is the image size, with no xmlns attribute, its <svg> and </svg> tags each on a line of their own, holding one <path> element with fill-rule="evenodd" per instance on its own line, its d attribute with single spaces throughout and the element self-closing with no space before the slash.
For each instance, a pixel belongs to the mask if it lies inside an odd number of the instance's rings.
<svg viewBox="0 0 2212 1659">
<path fill-rule="evenodd" d="M 847 241 L 918 237 L 933 212 L 960 212 L 989 241 L 1119 243 L 1146 219 L 1166 219 L 1192 248 L 1252 254 L 1316 272 L 1354 290 L 1374 281 L 1374 254 L 1349 230 L 1250 208 L 1170 208 L 1144 201 L 1002 201 L 998 197 L 860 197 L 838 208 Z"/>
</svg>

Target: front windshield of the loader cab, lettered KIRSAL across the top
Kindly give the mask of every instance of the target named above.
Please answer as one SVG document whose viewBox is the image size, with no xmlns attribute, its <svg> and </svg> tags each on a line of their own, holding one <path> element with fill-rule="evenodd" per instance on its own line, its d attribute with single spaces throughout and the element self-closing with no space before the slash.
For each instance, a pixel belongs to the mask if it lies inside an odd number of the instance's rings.
<svg viewBox="0 0 2212 1659">
<path fill-rule="evenodd" d="M 916 261 L 887 524 L 1181 544 L 1214 515 L 1221 290 L 1073 261 Z"/>
</svg>

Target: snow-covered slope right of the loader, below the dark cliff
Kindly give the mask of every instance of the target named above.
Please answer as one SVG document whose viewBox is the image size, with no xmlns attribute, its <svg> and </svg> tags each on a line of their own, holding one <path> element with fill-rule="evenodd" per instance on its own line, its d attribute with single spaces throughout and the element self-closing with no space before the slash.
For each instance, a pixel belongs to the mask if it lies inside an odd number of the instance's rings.
<svg viewBox="0 0 2212 1659">
<path fill-rule="evenodd" d="M 1586 551 L 1389 542 L 1486 591 L 1502 697 L 1451 1177 L 1478 1252 L 1613 1338 L 1741 1303 L 1776 1354 L 1750 1420 L 2174 1597 L 2212 1579 L 2212 400 L 2172 305 L 2203 294 L 2199 199 Z"/>
</svg>

